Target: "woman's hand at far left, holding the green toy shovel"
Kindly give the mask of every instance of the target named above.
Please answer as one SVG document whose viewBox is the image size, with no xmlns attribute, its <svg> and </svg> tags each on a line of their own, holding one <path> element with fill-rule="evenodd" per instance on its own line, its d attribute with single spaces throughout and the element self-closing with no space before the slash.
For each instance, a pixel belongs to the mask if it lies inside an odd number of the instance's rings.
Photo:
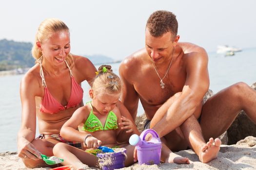
<svg viewBox="0 0 256 170">
<path fill-rule="evenodd" d="M 22 159 L 41 159 L 41 155 L 35 146 L 24 138 L 18 145 L 18 156 Z"/>
</svg>

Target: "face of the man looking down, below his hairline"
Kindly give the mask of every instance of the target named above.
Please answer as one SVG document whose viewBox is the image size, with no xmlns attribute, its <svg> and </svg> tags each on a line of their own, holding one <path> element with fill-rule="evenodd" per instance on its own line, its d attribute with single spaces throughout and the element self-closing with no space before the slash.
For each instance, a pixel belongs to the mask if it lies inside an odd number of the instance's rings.
<svg viewBox="0 0 256 170">
<path fill-rule="evenodd" d="M 177 38 L 175 38 L 175 40 L 176 39 Z M 171 32 L 165 33 L 159 37 L 154 37 L 150 34 L 148 28 L 146 28 L 145 44 L 148 55 L 151 57 L 152 61 L 160 64 L 171 59 L 172 52 L 177 42 L 174 41 Z"/>
</svg>

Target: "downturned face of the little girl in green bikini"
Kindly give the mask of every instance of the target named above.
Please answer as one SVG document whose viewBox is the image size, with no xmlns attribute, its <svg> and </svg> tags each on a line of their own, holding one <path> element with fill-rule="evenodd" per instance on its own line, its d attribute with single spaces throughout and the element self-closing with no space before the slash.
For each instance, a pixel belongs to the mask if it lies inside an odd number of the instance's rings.
<svg viewBox="0 0 256 170">
<path fill-rule="evenodd" d="M 120 97 L 120 93 L 93 94 L 93 90 L 90 90 L 89 94 L 93 99 L 93 106 L 98 110 L 98 113 L 102 115 L 108 114 L 111 110 L 113 110 L 116 107 Z"/>
</svg>

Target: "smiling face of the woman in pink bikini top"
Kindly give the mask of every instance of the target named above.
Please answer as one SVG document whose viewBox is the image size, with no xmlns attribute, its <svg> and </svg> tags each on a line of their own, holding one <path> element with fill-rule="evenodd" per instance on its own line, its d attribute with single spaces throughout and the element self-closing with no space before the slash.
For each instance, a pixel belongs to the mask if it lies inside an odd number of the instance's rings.
<svg viewBox="0 0 256 170">
<path fill-rule="evenodd" d="M 43 59 L 54 66 L 63 64 L 65 58 L 70 52 L 70 35 L 69 31 L 59 31 L 47 40 L 40 43 Z"/>
</svg>

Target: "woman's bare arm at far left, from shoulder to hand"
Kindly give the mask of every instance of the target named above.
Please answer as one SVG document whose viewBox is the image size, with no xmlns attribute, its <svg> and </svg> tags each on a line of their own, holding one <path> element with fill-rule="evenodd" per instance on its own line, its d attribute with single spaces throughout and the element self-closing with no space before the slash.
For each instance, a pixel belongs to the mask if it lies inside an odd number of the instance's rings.
<svg viewBox="0 0 256 170">
<path fill-rule="evenodd" d="M 41 158 L 39 151 L 31 143 L 36 134 L 36 102 L 35 94 L 38 82 L 31 73 L 24 76 L 20 83 L 20 100 L 22 106 L 21 127 L 18 132 L 18 155 L 21 158 L 37 160 Z M 32 154 L 33 153 L 33 154 Z M 36 157 L 36 156 L 37 157 Z"/>
</svg>

